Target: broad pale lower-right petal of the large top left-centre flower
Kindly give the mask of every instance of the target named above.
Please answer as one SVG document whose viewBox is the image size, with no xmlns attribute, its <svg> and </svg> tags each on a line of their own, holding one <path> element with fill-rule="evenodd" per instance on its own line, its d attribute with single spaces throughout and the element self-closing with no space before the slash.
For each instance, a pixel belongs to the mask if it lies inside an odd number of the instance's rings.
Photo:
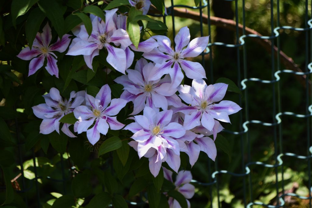
<svg viewBox="0 0 312 208">
<path fill-rule="evenodd" d="M 115 70 L 125 74 L 126 71 L 126 53 L 121 48 L 115 48 L 109 44 L 105 44 L 108 51 L 106 61 L 114 67 Z"/>
</svg>

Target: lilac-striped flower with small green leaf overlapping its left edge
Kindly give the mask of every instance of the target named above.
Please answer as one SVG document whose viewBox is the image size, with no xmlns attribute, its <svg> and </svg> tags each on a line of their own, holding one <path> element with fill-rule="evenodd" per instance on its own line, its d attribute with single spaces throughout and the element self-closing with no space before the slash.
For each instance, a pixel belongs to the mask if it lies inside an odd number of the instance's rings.
<svg viewBox="0 0 312 208">
<path fill-rule="evenodd" d="M 74 131 L 78 133 L 86 131 L 87 138 L 92 145 L 99 141 L 100 133 L 106 135 L 108 128 L 119 130 L 124 127 L 124 124 L 112 116 L 117 115 L 127 101 L 120 98 L 111 100 L 111 90 L 107 84 L 101 87 L 95 98 L 85 94 L 85 102 L 86 105 L 80 105 L 74 109 L 74 115 L 78 119 L 74 125 Z M 92 124 L 94 124 L 93 127 L 88 129 Z"/>
</svg>

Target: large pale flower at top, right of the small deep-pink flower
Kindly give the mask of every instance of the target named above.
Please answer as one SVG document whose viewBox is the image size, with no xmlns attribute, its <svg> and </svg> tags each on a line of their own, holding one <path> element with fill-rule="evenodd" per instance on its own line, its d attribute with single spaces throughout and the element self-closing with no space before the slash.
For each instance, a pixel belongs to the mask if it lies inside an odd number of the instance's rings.
<svg viewBox="0 0 312 208">
<path fill-rule="evenodd" d="M 117 71 L 125 74 L 127 63 L 132 63 L 133 57 L 132 60 L 124 61 L 127 58 L 124 49 L 132 44 L 132 42 L 129 39 L 127 31 L 116 28 L 113 16 L 117 10 L 105 11 L 105 22 L 98 17 L 94 18 L 92 20 L 92 33 L 90 37 L 85 26 L 82 25 L 67 55 L 84 55 L 86 65 L 92 69 L 93 58 L 99 55 L 101 49 L 105 48 L 108 51 L 106 61 Z M 121 45 L 121 48 L 116 48 L 111 43 L 114 43 L 116 46 Z M 131 59 L 130 56 L 129 58 Z"/>
</svg>

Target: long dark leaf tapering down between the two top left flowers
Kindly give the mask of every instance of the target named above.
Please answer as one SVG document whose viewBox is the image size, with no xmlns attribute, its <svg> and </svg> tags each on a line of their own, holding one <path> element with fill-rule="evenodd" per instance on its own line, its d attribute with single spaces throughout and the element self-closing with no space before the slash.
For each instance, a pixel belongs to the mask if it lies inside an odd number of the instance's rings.
<svg viewBox="0 0 312 208">
<path fill-rule="evenodd" d="M 60 5 L 56 1 L 50 0 L 41 0 L 38 4 L 41 11 L 51 20 L 52 26 L 61 38 L 64 35 L 65 23 Z"/>
</svg>

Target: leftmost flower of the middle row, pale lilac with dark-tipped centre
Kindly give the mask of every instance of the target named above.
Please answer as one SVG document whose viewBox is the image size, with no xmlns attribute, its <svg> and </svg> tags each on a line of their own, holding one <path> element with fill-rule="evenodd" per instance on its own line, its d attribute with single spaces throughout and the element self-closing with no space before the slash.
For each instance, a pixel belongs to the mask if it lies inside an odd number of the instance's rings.
<svg viewBox="0 0 312 208">
<path fill-rule="evenodd" d="M 72 91 L 70 98 L 64 99 L 60 95 L 60 91 L 54 87 L 50 89 L 50 92 L 43 95 L 46 103 L 39 104 L 32 107 L 32 110 L 40 119 L 43 119 L 40 124 L 40 133 L 49 134 L 53 131 L 60 133 L 60 119 L 71 112 L 74 108 L 79 106 L 84 100 L 83 91 L 75 92 Z M 64 123 L 62 132 L 69 137 L 76 137 L 68 127 L 71 124 Z"/>
</svg>

